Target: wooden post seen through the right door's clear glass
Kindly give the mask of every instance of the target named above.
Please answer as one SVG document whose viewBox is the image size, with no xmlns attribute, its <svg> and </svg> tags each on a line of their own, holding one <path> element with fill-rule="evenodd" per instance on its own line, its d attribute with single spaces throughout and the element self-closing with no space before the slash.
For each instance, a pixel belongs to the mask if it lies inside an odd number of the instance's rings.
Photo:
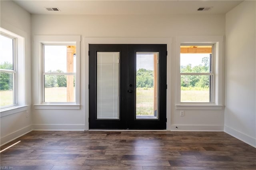
<svg viewBox="0 0 256 170">
<path fill-rule="evenodd" d="M 154 53 L 154 116 L 157 116 L 158 53 Z"/>
</svg>

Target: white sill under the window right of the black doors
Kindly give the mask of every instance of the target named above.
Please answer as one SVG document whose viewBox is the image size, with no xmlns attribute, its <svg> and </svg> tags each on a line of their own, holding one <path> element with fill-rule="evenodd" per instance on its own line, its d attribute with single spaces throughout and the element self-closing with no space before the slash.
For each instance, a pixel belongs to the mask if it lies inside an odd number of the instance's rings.
<svg viewBox="0 0 256 170">
<path fill-rule="evenodd" d="M 176 105 L 176 110 L 222 110 L 220 105 Z"/>
</svg>

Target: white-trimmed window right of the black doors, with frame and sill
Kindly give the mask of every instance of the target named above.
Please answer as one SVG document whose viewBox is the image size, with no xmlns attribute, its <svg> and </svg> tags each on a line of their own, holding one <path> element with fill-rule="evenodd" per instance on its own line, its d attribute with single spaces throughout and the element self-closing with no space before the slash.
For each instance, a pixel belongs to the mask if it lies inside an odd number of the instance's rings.
<svg viewBox="0 0 256 170">
<path fill-rule="evenodd" d="M 222 36 L 177 36 L 176 109 L 222 109 Z"/>
</svg>

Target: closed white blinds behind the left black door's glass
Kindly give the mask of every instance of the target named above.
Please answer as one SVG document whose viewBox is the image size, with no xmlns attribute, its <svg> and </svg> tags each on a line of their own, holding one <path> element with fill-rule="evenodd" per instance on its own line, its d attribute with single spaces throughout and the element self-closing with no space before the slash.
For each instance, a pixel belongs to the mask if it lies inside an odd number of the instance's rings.
<svg viewBox="0 0 256 170">
<path fill-rule="evenodd" d="M 119 52 L 97 52 L 97 119 L 119 119 Z"/>
</svg>

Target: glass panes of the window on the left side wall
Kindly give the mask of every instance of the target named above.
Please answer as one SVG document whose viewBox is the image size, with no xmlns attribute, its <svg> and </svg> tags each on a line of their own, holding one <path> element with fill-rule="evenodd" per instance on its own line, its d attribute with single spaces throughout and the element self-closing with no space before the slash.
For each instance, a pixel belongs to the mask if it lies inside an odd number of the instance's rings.
<svg viewBox="0 0 256 170">
<path fill-rule="evenodd" d="M 16 104 L 16 39 L 0 35 L 0 106 Z"/>
</svg>

